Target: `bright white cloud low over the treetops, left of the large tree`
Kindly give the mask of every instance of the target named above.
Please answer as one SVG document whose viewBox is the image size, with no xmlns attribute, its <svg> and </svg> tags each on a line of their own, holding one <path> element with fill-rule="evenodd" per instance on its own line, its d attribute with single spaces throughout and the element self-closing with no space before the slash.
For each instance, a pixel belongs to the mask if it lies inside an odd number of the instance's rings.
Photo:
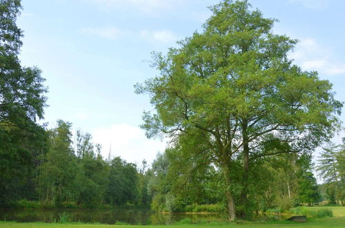
<svg viewBox="0 0 345 228">
<path fill-rule="evenodd" d="M 102 154 L 108 158 L 111 147 L 111 157 L 121 156 L 128 162 L 139 164 L 146 159 L 150 164 L 155 160 L 158 151 L 163 152 L 166 142 L 148 140 L 144 130 L 128 124 L 114 124 L 110 127 L 95 129 L 92 132 L 93 142 L 102 145 Z"/>
</svg>

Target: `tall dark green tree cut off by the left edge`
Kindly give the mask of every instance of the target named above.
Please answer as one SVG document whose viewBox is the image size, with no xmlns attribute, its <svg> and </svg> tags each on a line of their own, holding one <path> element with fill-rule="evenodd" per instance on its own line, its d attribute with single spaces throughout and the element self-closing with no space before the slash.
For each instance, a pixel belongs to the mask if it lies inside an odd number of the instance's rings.
<svg viewBox="0 0 345 228">
<path fill-rule="evenodd" d="M 36 120 L 47 88 L 39 68 L 21 66 L 20 10 L 21 1 L 0 0 L 0 207 L 21 195 L 45 137 Z"/>
</svg>

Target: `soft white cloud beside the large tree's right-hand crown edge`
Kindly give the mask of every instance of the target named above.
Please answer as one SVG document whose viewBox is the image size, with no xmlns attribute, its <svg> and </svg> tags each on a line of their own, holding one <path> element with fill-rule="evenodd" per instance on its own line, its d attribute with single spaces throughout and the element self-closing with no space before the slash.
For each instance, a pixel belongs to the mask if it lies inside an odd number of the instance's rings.
<svg viewBox="0 0 345 228">
<path fill-rule="evenodd" d="M 303 70 L 317 70 L 326 75 L 345 74 L 345 63 L 333 56 L 332 48 L 324 48 L 315 39 L 302 39 L 289 57 Z"/>
</svg>

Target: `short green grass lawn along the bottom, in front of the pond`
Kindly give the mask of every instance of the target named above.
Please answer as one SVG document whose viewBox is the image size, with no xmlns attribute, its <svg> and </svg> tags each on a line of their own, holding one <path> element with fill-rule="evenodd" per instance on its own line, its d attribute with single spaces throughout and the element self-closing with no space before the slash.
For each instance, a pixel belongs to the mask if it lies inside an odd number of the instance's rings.
<svg viewBox="0 0 345 228">
<path fill-rule="evenodd" d="M 217 222 L 197 225 L 150 225 L 145 228 L 183 228 L 183 227 L 243 227 L 243 228 L 260 228 L 260 227 L 345 227 L 345 207 L 308 207 L 308 209 L 327 208 L 333 211 L 332 218 L 309 218 L 308 222 L 243 222 L 241 224 Z M 103 225 L 103 224 L 59 224 L 59 223 L 42 223 L 42 222 L 0 222 L 0 227 L 127 227 L 127 228 L 143 228 L 140 225 Z"/>
</svg>

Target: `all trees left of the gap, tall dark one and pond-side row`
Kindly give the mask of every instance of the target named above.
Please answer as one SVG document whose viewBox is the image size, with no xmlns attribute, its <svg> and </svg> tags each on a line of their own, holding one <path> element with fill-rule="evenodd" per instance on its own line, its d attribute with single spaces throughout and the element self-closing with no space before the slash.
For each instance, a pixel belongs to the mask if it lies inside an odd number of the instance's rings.
<svg viewBox="0 0 345 228">
<path fill-rule="evenodd" d="M 144 173 L 121 158 L 104 160 L 91 135 L 71 124 L 37 124 L 47 88 L 41 70 L 19 61 L 23 32 L 16 25 L 20 0 L 0 0 L 0 207 L 16 200 L 95 205 L 148 205 Z"/>
</svg>

